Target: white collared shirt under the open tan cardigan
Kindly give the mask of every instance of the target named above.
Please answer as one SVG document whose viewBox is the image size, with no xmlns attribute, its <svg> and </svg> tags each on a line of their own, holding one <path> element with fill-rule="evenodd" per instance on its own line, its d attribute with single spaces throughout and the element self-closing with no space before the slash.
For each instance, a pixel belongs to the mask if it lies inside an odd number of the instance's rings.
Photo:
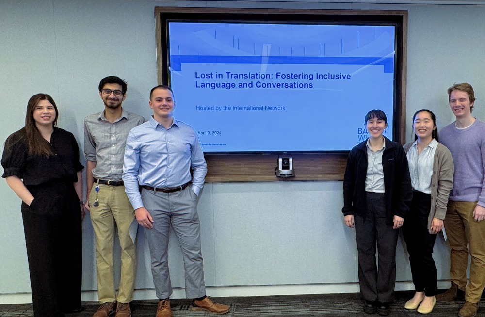
<svg viewBox="0 0 485 317">
<path fill-rule="evenodd" d="M 418 155 L 418 140 L 416 140 L 407 152 L 413 190 L 431 194 L 431 176 L 433 176 L 433 160 L 437 145 L 438 142 L 433 139 Z"/>
</svg>

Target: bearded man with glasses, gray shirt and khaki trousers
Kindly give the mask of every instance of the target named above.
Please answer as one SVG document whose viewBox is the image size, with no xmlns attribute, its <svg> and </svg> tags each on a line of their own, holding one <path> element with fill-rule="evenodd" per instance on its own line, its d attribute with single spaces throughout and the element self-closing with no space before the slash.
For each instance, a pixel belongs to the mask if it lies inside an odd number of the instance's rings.
<svg viewBox="0 0 485 317">
<path fill-rule="evenodd" d="M 108 76 L 99 83 L 104 111 L 84 119 L 87 194 L 84 207 L 91 213 L 96 237 L 97 293 L 101 304 L 93 317 L 130 317 L 129 302 L 135 284 L 135 238 L 138 223 L 123 185 L 123 156 L 129 131 L 145 119 L 125 111 L 127 83 Z M 114 224 L 121 245 L 121 278 L 116 296 L 113 274 Z"/>
</svg>

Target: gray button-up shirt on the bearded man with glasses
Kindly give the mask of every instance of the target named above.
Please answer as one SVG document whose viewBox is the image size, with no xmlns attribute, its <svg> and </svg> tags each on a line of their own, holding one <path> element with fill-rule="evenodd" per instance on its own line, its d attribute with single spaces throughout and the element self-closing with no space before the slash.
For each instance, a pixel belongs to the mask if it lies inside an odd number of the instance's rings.
<svg viewBox="0 0 485 317">
<path fill-rule="evenodd" d="M 104 111 L 84 119 L 84 154 L 96 162 L 93 176 L 104 180 L 121 180 L 126 138 L 129 131 L 145 122 L 142 116 L 125 111 L 121 118 L 109 122 Z"/>
</svg>

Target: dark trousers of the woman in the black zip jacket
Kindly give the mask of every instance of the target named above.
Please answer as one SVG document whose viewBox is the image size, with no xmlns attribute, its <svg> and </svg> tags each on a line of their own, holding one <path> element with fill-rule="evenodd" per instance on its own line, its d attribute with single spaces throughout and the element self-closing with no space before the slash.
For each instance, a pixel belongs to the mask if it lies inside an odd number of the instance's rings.
<svg viewBox="0 0 485 317">
<path fill-rule="evenodd" d="M 369 301 L 388 303 L 396 285 L 398 229 L 386 214 L 384 194 L 366 192 L 366 216 L 354 216 L 357 238 L 360 294 Z M 375 250 L 379 266 L 375 261 Z"/>
</svg>

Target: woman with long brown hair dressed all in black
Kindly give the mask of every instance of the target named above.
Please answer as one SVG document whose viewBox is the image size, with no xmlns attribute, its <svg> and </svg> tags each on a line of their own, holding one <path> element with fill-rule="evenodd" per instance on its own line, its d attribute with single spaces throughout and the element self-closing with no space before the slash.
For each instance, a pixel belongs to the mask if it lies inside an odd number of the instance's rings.
<svg viewBox="0 0 485 317">
<path fill-rule="evenodd" d="M 22 199 L 34 317 L 81 310 L 83 166 L 72 133 L 56 126 L 52 97 L 33 95 L 25 126 L 5 141 L 1 165 Z"/>
</svg>

